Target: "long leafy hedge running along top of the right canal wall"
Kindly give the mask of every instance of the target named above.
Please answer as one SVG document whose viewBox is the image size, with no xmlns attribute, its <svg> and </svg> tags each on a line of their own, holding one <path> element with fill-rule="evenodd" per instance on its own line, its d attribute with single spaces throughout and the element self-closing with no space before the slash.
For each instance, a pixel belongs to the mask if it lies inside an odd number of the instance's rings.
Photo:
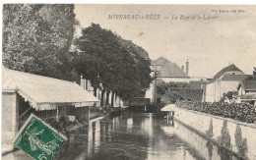
<svg viewBox="0 0 256 160">
<path fill-rule="evenodd" d="M 201 103 L 178 101 L 176 105 L 181 108 L 208 113 L 216 116 L 236 119 L 242 122 L 256 122 L 256 107 L 247 103 Z"/>
</svg>

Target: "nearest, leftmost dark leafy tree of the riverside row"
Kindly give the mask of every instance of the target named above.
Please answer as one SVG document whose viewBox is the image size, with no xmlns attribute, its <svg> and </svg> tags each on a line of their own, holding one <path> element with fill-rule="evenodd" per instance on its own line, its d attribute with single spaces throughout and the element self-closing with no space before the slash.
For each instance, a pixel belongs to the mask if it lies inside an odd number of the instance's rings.
<svg viewBox="0 0 256 160">
<path fill-rule="evenodd" d="M 91 80 L 95 90 L 101 82 L 105 92 L 113 85 L 113 77 L 117 62 L 120 61 L 120 45 L 110 30 L 102 29 L 93 24 L 83 29 L 82 36 L 75 41 L 79 52 L 76 59 L 76 69 Z"/>
</svg>

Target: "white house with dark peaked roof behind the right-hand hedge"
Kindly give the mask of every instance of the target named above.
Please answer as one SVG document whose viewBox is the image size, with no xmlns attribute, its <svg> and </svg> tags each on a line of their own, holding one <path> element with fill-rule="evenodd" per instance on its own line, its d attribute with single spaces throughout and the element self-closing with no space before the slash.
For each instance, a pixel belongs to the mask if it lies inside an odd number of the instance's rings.
<svg viewBox="0 0 256 160">
<path fill-rule="evenodd" d="M 235 91 L 241 80 L 245 80 L 248 76 L 245 75 L 234 64 L 228 65 L 214 79 L 204 85 L 205 102 L 219 102 L 227 91 Z"/>
</svg>

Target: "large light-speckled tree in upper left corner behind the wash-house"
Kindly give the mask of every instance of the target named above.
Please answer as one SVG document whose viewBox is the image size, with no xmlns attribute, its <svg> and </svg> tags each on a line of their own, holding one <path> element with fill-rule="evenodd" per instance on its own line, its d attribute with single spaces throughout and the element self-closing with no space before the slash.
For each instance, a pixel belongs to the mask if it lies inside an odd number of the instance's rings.
<svg viewBox="0 0 256 160">
<path fill-rule="evenodd" d="M 54 78 L 70 74 L 75 24 L 74 5 L 5 4 L 4 66 Z"/>
</svg>

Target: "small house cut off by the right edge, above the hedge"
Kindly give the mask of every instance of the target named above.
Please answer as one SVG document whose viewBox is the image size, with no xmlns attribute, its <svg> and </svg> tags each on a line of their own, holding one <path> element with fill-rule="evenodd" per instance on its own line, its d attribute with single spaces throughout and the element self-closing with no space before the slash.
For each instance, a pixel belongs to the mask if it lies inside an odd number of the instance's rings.
<svg viewBox="0 0 256 160">
<path fill-rule="evenodd" d="M 249 102 L 256 105 L 256 80 L 241 80 L 237 87 L 236 102 Z"/>
</svg>

